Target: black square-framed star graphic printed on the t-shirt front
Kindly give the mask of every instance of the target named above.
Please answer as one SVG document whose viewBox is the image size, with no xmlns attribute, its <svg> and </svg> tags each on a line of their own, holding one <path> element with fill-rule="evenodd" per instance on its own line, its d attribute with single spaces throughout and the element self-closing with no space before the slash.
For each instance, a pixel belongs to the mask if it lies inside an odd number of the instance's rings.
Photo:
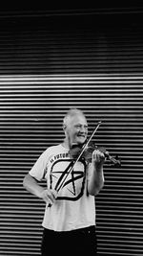
<svg viewBox="0 0 143 256">
<path fill-rule="evenodd" d="M 52 164 L 51 189 L 58 191 L 64 181 L 57 199 L 77 200 L 83 195 L 86 164 L 81 160 L 73 165 L 73 169 L 72 165 L 71 159 L 58 159 Z M 69 174 L 69 172 L 71 173 Z M 67 176 L 67 174 L 69 175 Z"/>
</svg>

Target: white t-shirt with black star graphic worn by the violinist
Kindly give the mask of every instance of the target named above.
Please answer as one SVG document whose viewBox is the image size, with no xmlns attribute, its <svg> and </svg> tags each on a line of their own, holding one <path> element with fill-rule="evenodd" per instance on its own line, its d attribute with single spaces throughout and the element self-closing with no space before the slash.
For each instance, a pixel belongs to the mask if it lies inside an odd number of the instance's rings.
<svg viewBox="0 0 143 256">
<path fill-rule="evenodd" d="M 31 168 L 30 175 L 37 180 L 47 179 L 51 189 L 59 188 L 72 168 L 69 150 L 61 144 L 44 151 Z M 54 231 L 68 231 L 95 225 L 94 197 L 87 192 L 87 167 L 78 161 L 64 181 L 51 207 L 46 205 L 42 225 Z"/>
</svg>

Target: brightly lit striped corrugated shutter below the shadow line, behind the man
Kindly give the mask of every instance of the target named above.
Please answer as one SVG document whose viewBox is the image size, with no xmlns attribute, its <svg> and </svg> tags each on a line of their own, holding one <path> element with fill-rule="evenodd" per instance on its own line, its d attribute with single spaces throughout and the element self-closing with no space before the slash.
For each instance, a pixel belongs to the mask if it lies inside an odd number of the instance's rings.
<svg viewBox="0 0 143 256">
<path fill-rule="evenodd" d="M 0 84 L 1 255 L 38 255 L 44 205 L 22 179 L 42 151 L 62 140 L 63 115 L 75 105 L 91 131 L 102 120 L 97 145 L 122 159 L 121 168 L 105 168 L 96 198 L 99 252 L 142 255 L 143 77 L 1 77 Z"/>
</svg>

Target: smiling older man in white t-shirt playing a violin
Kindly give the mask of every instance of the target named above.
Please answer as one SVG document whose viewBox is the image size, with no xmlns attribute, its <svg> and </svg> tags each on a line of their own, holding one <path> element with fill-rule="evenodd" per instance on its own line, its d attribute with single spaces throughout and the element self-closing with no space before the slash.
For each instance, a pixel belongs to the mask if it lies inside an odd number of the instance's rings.
<svg viewBox="0 0 143 256">
<path fill-rule="evenodd" d="M 95 256 L 94 196 L 104 185 L 105 156 L 103 152 L 95 150 L 92 163 L 83 157 L 76 162 L 72 159 L 72 146 L 84 145 L 88 136 L 87 120 L 80 109 L 68 111 L 63 130 L 64 141 L 40 155 L 25 176 L 23 185 L 46 202 L 42 223 L 42 256 L 50 251 L 67 255 L 67 249 L 71 254 L 88 252 Z M 38 183 L 43 178 L 47 179 L 46 189 Z"/>
</svg>

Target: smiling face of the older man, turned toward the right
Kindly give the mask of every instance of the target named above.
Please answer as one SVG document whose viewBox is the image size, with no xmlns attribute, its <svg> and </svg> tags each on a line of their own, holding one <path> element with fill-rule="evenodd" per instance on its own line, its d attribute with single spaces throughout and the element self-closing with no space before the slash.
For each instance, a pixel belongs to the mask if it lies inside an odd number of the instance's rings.
<svg viewBox="0 0 143 256">
<path fill-rule="evenodd" d="M 66 128 L 67 136 L 72 144 L 83 144 L 88 135 L 87 120 L 83 115 L 74 115 L 68 122 Z"/>
</svg>

